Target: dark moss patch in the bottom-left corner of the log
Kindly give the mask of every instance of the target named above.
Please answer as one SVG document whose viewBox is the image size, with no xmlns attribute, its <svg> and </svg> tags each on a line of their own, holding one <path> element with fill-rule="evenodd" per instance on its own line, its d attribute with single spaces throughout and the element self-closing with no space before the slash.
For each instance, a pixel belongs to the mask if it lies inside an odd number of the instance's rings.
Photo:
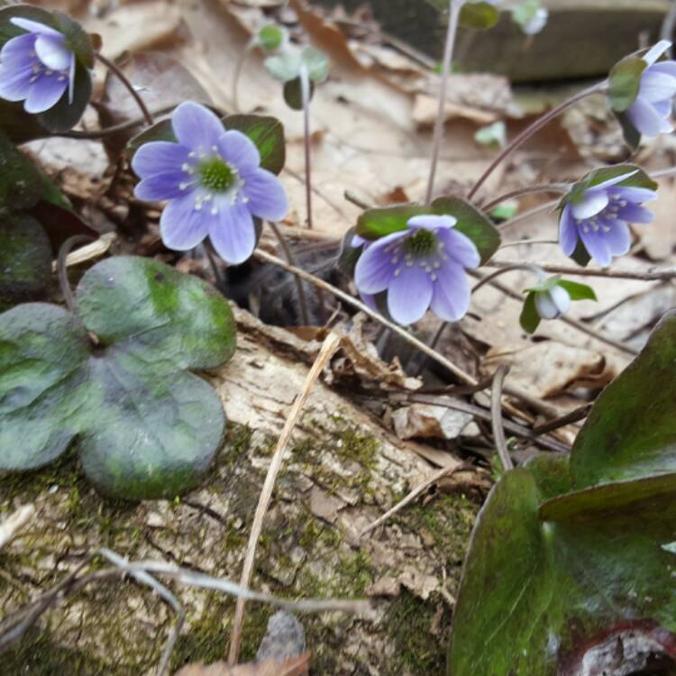
<svg viewBox="0 0 676 676">
<path fill-rule="evenodd" d="M 49 631 L 21 644 L 2 655 L 3 673 L 25 676 L 54 674 L 87 674 L 87 676 L 132 676 L 127 668 L 101 662 L 78 650 L 70 650 L 54 642 Z"/>
</svg>

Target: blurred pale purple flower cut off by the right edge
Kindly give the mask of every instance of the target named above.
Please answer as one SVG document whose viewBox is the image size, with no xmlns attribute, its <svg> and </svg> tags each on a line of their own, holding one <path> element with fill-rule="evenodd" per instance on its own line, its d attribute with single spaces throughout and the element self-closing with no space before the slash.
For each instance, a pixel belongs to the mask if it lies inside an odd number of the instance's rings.
<svg viewBox="0 0 676 676">
<path fill-rule="evenodd" d="M 644 136 L 658 136 L 672 132 L 670 122 L 673 97 L 676 95 L 676 61 L 660 61 L 671 42 L 658 42 L 643 57 L 648 67 L 641 74 L 641 84 L 635 102 L 626 110 L 626 116 L 637 132 Z"/>
</svg>

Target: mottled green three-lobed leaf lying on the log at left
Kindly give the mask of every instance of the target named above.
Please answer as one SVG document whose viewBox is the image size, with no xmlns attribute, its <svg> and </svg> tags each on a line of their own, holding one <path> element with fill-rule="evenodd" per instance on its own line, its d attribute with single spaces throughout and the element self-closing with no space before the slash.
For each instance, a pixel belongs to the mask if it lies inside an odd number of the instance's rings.
<svg viewBox="0 0 676 676">
<path fill-rule="evenodd" d="M 90 269 L 76 300 L 79 319 L 41 303 L 0 315 L 0 469 L 40 467 L 77 437 L 87 476 L 105 493 L 160 498 L 191 488 L 213 460 L 224 411 L 188 369 L 232 357 L 227 301 L 200 279 L 133 256 Z"/>
</svg>

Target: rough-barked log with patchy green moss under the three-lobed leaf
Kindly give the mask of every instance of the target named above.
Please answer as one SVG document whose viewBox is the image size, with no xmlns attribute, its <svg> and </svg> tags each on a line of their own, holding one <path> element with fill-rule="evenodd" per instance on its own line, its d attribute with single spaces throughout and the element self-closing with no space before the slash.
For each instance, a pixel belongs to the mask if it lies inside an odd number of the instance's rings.
<svg viewBox="0 0 676 676">
<path fill-rule="evenodd" d="M 30 525 L 0 550 L 0 607 L 13 612 L 105 546 L 238 580 L 269 456 L 316 345 L 279 342 L 240 313 L 239 347 L 209 376 L 230 417 L 203 485 L 173 501 L 113 502 L 92 489 L 72 457 L 0 483 L 0 520 L 36 507 Z M 286 333 L 286 332 L 285 332 Z M 287 334 L 288 335 L 288 334 Z M 297 343 L 297 351 L 294 347 Z M 477 507 L 461 495 L 407 507 L 360 539 L 430 467 L 358 407 L 317 383 L 294 435 L 260 540 L 252 586 L 285 598 L 374 596 L 373 617 L 304 616 L 312 673 L 443 671 L 461 562 Z M 103 565 L 103 562 L 102 562 Z M 234 602 L 169 587 L 187 611 L 172 668 L 222 659 Z M 256 652 L 274 608 L 249 604 L 242 660 Z M 2 673 L 138 676 L 157 666 L 174 617 L 150 589 L 102 582 L 41 618 L 0 655 Z"/>
</svg>

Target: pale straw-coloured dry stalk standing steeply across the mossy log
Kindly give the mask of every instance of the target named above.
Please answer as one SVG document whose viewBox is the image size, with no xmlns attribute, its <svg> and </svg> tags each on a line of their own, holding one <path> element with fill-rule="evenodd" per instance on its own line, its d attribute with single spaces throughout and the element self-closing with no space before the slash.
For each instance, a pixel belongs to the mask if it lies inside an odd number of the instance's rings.
<svg viewBox="0 0 676 676">
<path fill-rule="evenodd" d="M 251 525 L 251 534 L 249 536 L 249 544 L 247 544 L 246 554 L 244 556 L 244 567 L 242 569 L 242 578 L 240 584 L 242 587 L 248 587 L 249 582 L 251 581 L 251 573 L 253 571 L 253 562 L 256 558 L 256 547 L 260 538 L 260 531 L 263 527 L 263 519 L 268 511 L 269 501 L 272 498 L 272 490 L 275 487 L 275 480 L 281 469 L 282 461 L 284 460 L 284 452 L 287 449 L 288 442 L 291 438 L 291 433 L 293 432 L 294 427 L 298 422 L 298 418 L 303 411 L 303 407 L 306 404 L 307 397 L 310 394 L 310 390 L 315 385 L 315 380 L 319 378 L 324 366 L 333 356 L 333 353 L 338 349 L 341 344 L 341 340 L 335 333 L 329 333 L 324 343 L 322 344 L 322 349 L 320 350 L 315 363 L 312 365 L 305 383 L 303 384 L 303 389 L 300 391 L 300 394 L 296 397 L 293 407 L 291 408 L 291 413 L 288 416 L 287 422 L 284 425 L 284 429 L 279 435 L 279 441 L 277 442 L 277 447 L 275 452 L 272 454 L 272 461 L 270 461 L 268 474 L 265 477 L 265 483 L 263 488 L 260 491 L 260 498 L 258 502 L 258 507 L 256 507 L 256 513 L 253 516 L 253 524 Z M 244 604 L 245 601 L 243 598 L 237 599 L 237 607 L 234 611 L 234 620 L 233 620 L 233 635 L 230 641 L 230 654 L 228 656 L 228 662 L 231 665 L 237 663 L 237 660 L 240 656 L 240 644 L 242 643 L 242 624 L 244 621 Z"/>
</svg>

